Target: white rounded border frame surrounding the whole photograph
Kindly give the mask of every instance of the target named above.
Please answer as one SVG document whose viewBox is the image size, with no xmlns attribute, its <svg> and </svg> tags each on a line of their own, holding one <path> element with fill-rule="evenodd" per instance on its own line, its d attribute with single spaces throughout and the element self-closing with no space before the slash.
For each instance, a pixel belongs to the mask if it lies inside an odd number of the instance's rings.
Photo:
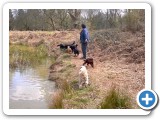
<svg viewBox="0 0 160 120">
<path fill-rule="evenodd" d="M 142 109 L 9 109 L 9 9 L 145 9 L 145 89 L 151 89 L 151 6 L 147 3 L 6 3 L 3 6 L 3 112 L 6 115 L 148 115 Z"/>
</svg>

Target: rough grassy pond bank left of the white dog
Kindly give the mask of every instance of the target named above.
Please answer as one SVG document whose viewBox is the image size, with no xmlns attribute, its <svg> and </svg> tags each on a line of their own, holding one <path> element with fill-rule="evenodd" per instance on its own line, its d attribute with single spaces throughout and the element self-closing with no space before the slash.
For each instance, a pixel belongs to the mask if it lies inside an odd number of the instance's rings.
<svg viewBox="0 0 160 120">
<path fill-rule="evenodd" d="M 53 100 L 53 106 L 61 106 L 66 109 L 85 109 L 95 99 L 96 93 L 93 86 L 87 86 L 83 89 L 78 87 L 78 72 L 75 70 L 76 65 L 70 61 L 70 55 L 62 53 L 58 56 L 58 63 L 53 65 L 55 72 L 51 73 L 56 82 L 57 88 L 62 91 L 61 98 L 59 95 Z M 61 102 L 62 101 L 62 102 Z M 60 105 L 61 104 L 61 105 Z M 60 108 L 60 107 L 53 107 Z"/>
</svg>

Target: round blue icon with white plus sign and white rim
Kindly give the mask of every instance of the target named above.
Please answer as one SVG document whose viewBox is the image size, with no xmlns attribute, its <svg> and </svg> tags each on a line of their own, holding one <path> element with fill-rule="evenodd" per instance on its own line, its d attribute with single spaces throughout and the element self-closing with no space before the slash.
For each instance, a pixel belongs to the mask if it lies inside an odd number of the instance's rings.
<svg viewBox="0 0 160 120">
<path fill-rule="evenodd" d="M 157 104 L 157 94 L 153 90 L 142 90 L 137 95 L 138 105 L 145 110 L 150 110 Z"/>
</svg>

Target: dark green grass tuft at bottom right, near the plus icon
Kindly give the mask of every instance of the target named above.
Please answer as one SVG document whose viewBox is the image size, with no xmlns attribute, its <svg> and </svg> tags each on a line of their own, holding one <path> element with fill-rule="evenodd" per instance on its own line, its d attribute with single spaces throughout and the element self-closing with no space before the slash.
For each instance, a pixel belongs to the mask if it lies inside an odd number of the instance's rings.
<svg viewBox="0 0 160 120">
<path fill-rule="evenodd" d="M 101 109 L 129 109 L 131 103 L 129 97 L 122 95 L 115 88 L 111 89 L 108 95 L 104 98 L 100 104 Z"/>
</svg>

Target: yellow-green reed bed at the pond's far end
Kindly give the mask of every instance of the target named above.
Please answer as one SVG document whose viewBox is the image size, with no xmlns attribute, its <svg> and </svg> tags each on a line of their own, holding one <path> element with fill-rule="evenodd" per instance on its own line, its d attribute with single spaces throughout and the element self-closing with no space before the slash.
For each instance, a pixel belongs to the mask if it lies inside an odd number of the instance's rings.
<svg viewBox="0 0 160 120">
<path fill-rule="evenodd" d="M 25 45 L 9 46 L 10 68 L 36 66 L 48 57 L 47 48 L 44 45 L 29 47 Z"/>
</svg>

